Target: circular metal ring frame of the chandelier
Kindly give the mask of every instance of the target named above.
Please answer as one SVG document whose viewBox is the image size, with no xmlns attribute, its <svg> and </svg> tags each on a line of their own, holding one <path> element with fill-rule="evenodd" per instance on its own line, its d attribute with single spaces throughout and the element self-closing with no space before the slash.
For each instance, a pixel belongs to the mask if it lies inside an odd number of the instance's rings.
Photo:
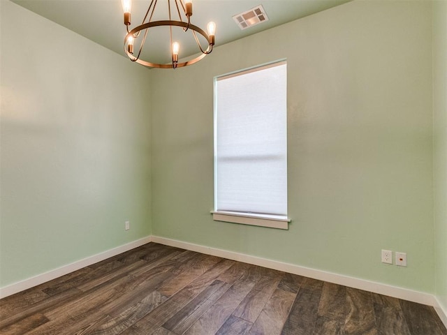
<svg viewBox="0 0 447 335">
<path fill-rule="evenodd" d="M 191 29 L 191 30 L 193 30 L 193 34 L 194 34 L 194 31 L 196 31 L 196 32 L 198 32 L 198 34 L 202 35 L 207 41 L 210 41 L 210 36 L 208 36 L 208 34 L 205 33 L 205 31 L 203 31 L 203 29 L 200 29 L 199 27 L 195 26 L 194 24 L 190 24 L 188 22 L 173 21 L 173 20 L 161 20 L 161 21 L 147 22 L 145 24 L 141 24 L 140 26 L 133 28 L 131 31 L 129 31 L 129 33 L 124 38 L 124 51 L 126 52 L 127 57 L 129 57 L 129 59 L 131 59 L 131 61 L 135 61 L 138 64 L 141 64 L 143 66 L 149 66 L 151 68 L 173 68 L 172 63 L 158 64 L 158 63 L 152 63 L 150 61 L 143 61 L 142 59 L 139 59 L 139 57 L 133 56 L 133 54 L 131 54 L 129 52 L 129 50 L 127 50 L 127 48 L 126 48 L 127 40 L 129 37 L 135 36 L 135 34 L 138 34 L 138 32 L 142 31 L 143 29 L 149 29 L 151 27 L 161 27 L 161 26 L 168 26 L 168 27 L 175 26 L 175 27 L 183 27 L 184 29 Z M 181 68 L 183 66 L 188 66 L 188 65 L 197 63 L 198 61 L 200 61 L 200 59 L 203 59 L 211 51 L 212 51 L 212 45 L 210 44 L 210 42 L 208 42 L 208 47 L 207 47 L 207 50 L 205 50 L 205 52 L 202 52 L 198 57 L 196 57 L 194 59 L 191 59 L 189 61 L 184 61 L 183 63 L 176 64 L 176 67 Z"/>
</svg>

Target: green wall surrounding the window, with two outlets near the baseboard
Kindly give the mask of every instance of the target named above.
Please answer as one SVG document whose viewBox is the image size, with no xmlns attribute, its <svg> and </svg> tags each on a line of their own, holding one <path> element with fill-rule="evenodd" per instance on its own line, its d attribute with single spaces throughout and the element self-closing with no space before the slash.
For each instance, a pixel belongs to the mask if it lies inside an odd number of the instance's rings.
<svg viewBox="0 0 447 335">
<path fill-rule="evenodd" d="M 431 38 L 430 1 L 354 1 L 154 70 L 153 234 L 434 292 Z M 282 58 L 289 230 L 214 222 L 213 77 Z"/>
</svg>

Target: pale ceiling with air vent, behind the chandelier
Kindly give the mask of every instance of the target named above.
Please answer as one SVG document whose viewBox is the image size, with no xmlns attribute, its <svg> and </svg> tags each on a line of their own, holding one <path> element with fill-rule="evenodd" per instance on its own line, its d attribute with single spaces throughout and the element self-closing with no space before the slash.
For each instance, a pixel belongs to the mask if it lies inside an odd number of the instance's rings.
<svg viewBox="0 0 447 335">
<path fill-rule="evenodd" d="M 123 24 L 121 0 L 12 0 L 13 2 L 42 15 L 61 26 L 93 40 L 119 54 L 124 54 L 123 42 L 126 28 Z M 171 6 L 174 0 L 171 0 Z M 209 21 L 217 24 L 216 46 L 256 34 L 300 17 L 339 6 L 351 0 L 193 0 L 191 23 L 204 29 Z M 131 29 L 141 23 L 150 0 L 133 0 Z M 167 1 L 159 0 L 154 20 L 168 20 Z M 269 20 L 249 29 L 240 30 L 233 15 L 262 5 Z M 156 16 L 156 17 L 155 17 Z M 174 20 L 174 19 L 173 19 Z M 147 61 L 168 63 L 170 45 L 167 28 L 149 29 L 145 45 L 150 52 L 143 55 Z M 177 34 L 179 29 L 174 31 Z M 189 34 L 190 35 L 190 34 Z M 180 57 L 198 52 L 192 38 L 182 41 Z"/>
</svg>

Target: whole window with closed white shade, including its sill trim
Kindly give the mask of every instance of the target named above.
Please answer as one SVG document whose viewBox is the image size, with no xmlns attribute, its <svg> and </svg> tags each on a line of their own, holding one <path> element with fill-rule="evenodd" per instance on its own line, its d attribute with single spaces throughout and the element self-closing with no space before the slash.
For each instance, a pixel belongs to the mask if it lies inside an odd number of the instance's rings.
<svg viewBox="0 0 447 335">
<path fill-rule="evenodd" d="M 214 80 L 213 216 L 288 228 L 286 61 Z"/>
</svg>

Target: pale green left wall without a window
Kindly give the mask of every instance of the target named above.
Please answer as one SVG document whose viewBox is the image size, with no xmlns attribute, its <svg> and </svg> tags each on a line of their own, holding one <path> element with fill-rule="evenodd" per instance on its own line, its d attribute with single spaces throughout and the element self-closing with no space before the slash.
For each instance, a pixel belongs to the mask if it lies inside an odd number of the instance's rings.
<svg viewBox="0 0 447 335">
<path fill-rule="evenodd" d="M 151 110 L 149 70 L 0 6 L 3 287 L 151 234 Z"/>
</svg>

